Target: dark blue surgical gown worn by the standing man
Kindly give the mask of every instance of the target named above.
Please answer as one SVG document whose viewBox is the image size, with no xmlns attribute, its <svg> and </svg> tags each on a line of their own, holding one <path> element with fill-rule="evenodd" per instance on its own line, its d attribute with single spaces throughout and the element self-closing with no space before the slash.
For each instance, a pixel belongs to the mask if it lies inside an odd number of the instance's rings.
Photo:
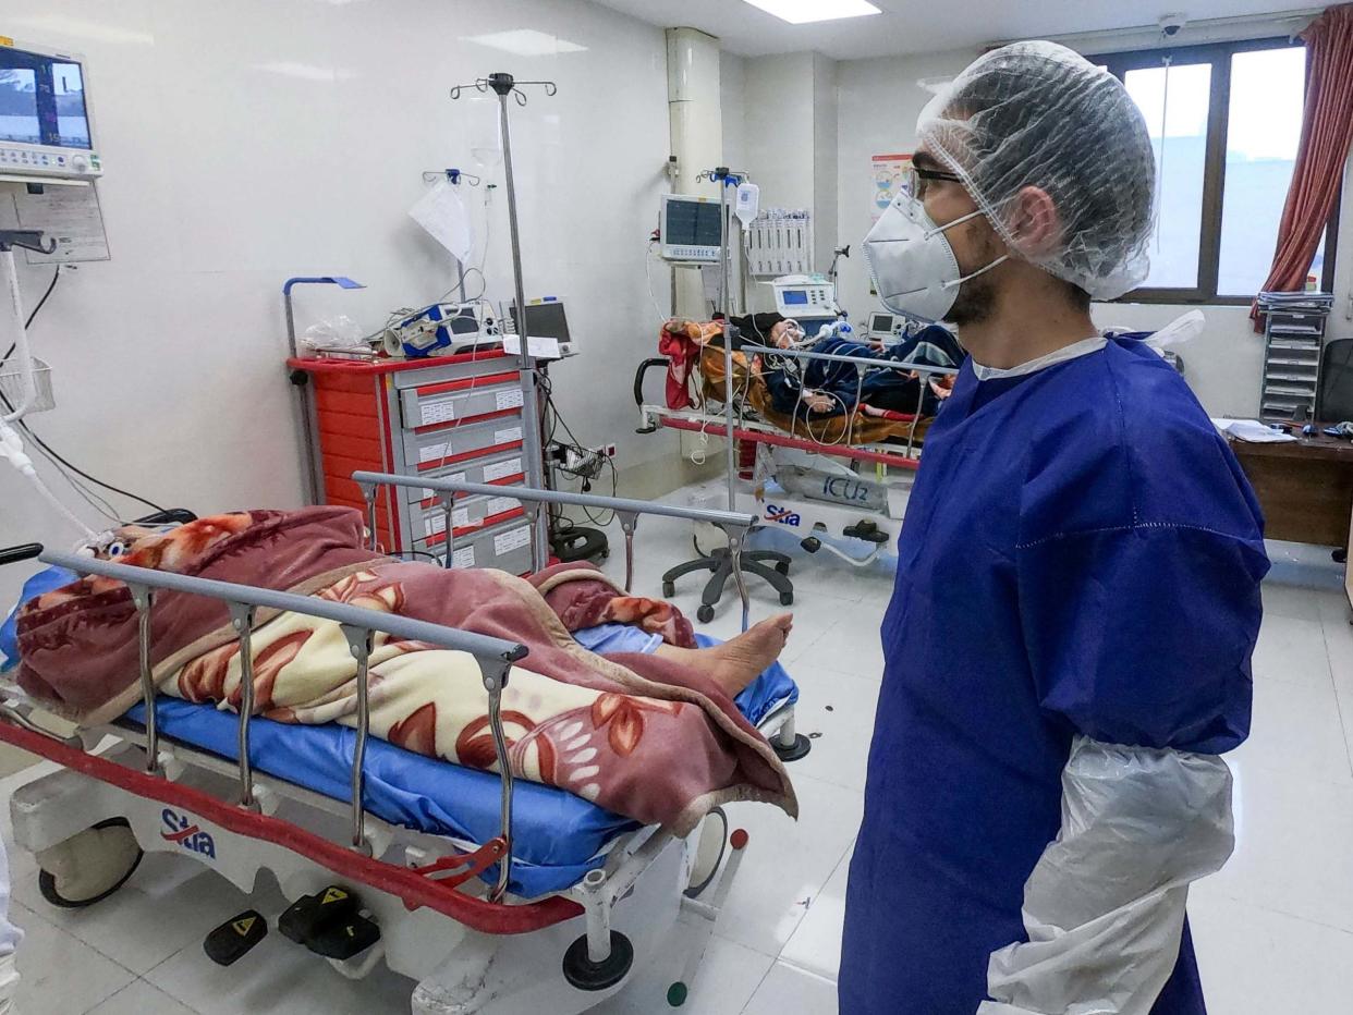
<svg viewBox="0 0 1353 1015">
<path fill-rule="evenodd" d="M 1222 752 L 1250 724 L 1262 516 L 1135 340 L 978 382 L 925 438 L 884 620 L 843 1015 L 973 1015 L 1061 827 L 1077 734 Z M 1130 849 L 1130 844 L 1127 846 Z M 1187 927 L 1155 1015 L 1201 1015 Z"/>
</svg>

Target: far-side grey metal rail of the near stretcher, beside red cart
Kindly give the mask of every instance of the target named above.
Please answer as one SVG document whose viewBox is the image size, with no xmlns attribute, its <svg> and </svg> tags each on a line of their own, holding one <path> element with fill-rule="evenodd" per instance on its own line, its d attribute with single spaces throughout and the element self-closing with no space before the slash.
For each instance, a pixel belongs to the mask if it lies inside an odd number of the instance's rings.
<svg viewBox="0 0 1353 1015">
<path fill-rule="evenodd" d="M 751 620 L 751 600 L 747 593 L 747 581 L 739 568 L 743 545 L 748 532 L 756 525 L 755 514 L 739 512 L 721 512 L 709 508 L 678 508 L 668 503 L 652 501 L 636 501 L 628 497 L 599 497 L 597 494 L 570 494 L 561 490 L 534 490 L 522 486 L 488 486 L 484 483 L 465 483 L 456 479 L 429 479 L 423 476 L 402 476 L 392 472 L 353 472 L 352 479 L 361 487 L 367 501 L 367 520 L 371 531 L 372 548 L 376 539 L 376 487 L 377 486 L 407 486 L 417 490 L 433 490 L 438 497 L 441 509 L 445 513 L 446 556 L 445 567 L 452 566 L 455 551 L 455 528 L 452 514 L 455 498 L 457 495 L 509 497 L 518 501 L 532 522 L 536 521 L 541 505 L 559 505 L 587 508 L 591 510 L 614 512 L 620 518 L 620 528 L 625 533 L 625 591 L 630 590 L 635 581 L 635 529 L 639 526 L 639 517 L 652 514 L 662 518 L 679 518 L 682 521 L 700 521 L 716 525 L 723 529 L 728 540 L 728 554 L 732 559 L 733 579 L 737 582 L 737 595 L 743 604 L 743 631 Z"/>
</svg>

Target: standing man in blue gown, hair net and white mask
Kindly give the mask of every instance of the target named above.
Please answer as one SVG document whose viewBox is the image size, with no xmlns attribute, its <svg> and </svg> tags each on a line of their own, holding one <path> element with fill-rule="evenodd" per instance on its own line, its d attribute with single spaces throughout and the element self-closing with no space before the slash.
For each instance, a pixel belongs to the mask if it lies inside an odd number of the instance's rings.
<svg viewBox="0 0 1353 1015">
<path fill-rule="evenodd" d="M 993 50 L 917 125 L 866 253 L 969 359 L 925 438 L 884 620 L 844 1015 L 1201 1015 L 1184 904 L 1233 849 L 1262 518 L 1180 375 L 1091 299 L 1146 277 L 1122 84 Z"/>
</svg>

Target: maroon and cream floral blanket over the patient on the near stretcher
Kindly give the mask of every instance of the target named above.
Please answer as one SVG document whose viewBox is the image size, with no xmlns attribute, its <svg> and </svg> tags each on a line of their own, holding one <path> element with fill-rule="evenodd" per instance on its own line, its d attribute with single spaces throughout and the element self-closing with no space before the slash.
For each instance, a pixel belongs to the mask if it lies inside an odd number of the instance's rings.
<svg viewBox="0 0 1353 1015">
<path fill-rule="evenodd" d="M 616 621 L 691 644 L 666 602 L 624 595 L 589 566 L 525 581 L 501 571 L 394 562 L 361 545 L 345 508 L 246 512 L 137 540 L 124 563 L 264 586 L 525 644 L 503 693 L 515 775 L 571 790 L 645 824 L 686 834 L 737 800 L 797 813 L 766 740 L 704 674 L 653 655 L 597 655 L 568 633 Z M 152 666 L 161 693 L 241 704 L 238 640 L 223 604 L 157 593 Z M 20 686 L 88 725 L 141 697 L 137 612 L 124 585 L 87 578 L 32 600 L 18 623 Z M 254 712 L 284 723 L 356 724 L 356 662 L 337 624 L 260 610 L 252 640 Z M 371 732 L 419 754 L 495 765 L 474 656 L 377 633 Z"/>
</svg>

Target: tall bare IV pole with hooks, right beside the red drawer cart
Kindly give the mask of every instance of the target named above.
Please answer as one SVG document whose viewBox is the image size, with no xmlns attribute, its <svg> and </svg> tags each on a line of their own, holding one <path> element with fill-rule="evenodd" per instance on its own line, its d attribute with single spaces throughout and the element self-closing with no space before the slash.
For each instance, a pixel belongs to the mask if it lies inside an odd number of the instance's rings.
<svg viewBox="0 0 1353 1015">
<path fill-rule="evenodd" d="M 521 91 L 521 85 L 541 85 L 545 95 L 555 95 L 559 91 L 553 81 L 517 81 L 511 74 L 497 73 L 480 77 L 472 84 L 456 85 L 451 89 L 451 97 L 459 99 L 464 88 L 474 88 L 478 92 L 492 89 L 498 96 L 498 127 L 503 138 L 503 176 L 507 183 L 507 230 L 511 234 L 511 271 L 517 295 L 515 323 L 521 338 L 521 422 L 524 433 L 532 434 L 532 440 L 526 444 L 532 448 L 532 453 L 526 456 L 526 483 L 543 490 L 545 449 L 540 429 L 540 392 L 536 387 L 536 361 L 528 348 L 526 296 L 521 280 L 521 237 L 517 229 L 517 188 L 511 169 L 511 131 L 507 125 L 507 96 L 511 95 L 518 106 L 526 104 L 526 93 Z M 549 513 L 537 509 L 532 529 L 532 570 L 543 571 L 549 563 Z"/>
</svg>

